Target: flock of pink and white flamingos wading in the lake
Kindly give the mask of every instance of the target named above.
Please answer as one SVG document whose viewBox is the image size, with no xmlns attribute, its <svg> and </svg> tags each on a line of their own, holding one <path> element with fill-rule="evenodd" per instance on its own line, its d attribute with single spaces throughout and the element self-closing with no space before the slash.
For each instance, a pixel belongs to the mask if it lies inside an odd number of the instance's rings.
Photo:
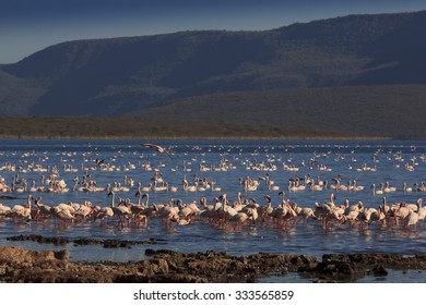
<svg viewBox="0 0 426 305">
<path fill-rule="evenodd" d="M 174 164 L 174 155 L 169 149 L 153 144 L 143 146 L 154 148 L 156 152 L 165 154 L 170 158 Z M 33 152 L 34 155 L 34 152 Z M 155 155 L 155 154 L 154 154 Z M 23 157 L 31 157 L 32 152 L 24 154 Z M 72 156 L 72 154 L 71 154 Z M 387 194 L 397 192 L 395 186 L 391 186 L 388 181 L 380 182 L 378 187 L 371 184 L 369 187 L 358 185 L 356 180 L 348 180 L 342 183 L 342 176 L 336 175 L 328 180 L 316 178 L 312 174 L 298 175 L 301 170 L 330 172 L 332 169 L 318 162 L 320 156 L 313 156 L 309 160 L 303 160 L 299 164 L 286 164 L 282 159 L 277 166 L 277 160 L 272 159 L 270 155 L 268 162 L 252 162 L 240 160 L 240 164 L 246 171 L 264 172 L 257 179 L 247 175 L 239 178 L 240 191 L 234 199 L 229 198 L 227 192 L 217 186 L 216 182 L 206 178 L 200 178 L 201 173 L 206 171 L 226 172 L 233 170 L 233 164 L 222 158 L 218 166 L 206 166 L 200 162 L 196 173 L 189 170 L 191 162 L 186 161 L 181 171 L 184 172 L 181 185 L 170 185 L 164 179 L 164 164 L 159 163 L 157 168 L 152 168 L 151 163 L 140 163 L 138 166 L 131 162 L 123 167 L 111 164 L 113 159 L 104 160 L 100 158 L 85 158 L 85 163 L 81 168 L 73 168 L 70 163 L 64 163 L 63 168 L 57 166 L 43 167 L 40 163 L 22 162 L 12 164 L 4 162 L 0 171 L 13 172 L 11 183 L 0 176 L 0 221 L 13 221 L 16 224 L 32 224 L 47 222 L 55 223 L 58 227 L 71 227 L 74 223 L 98 223 L 100 227 L 116 225 L 123 228 L 128 225 L 147 227 L 151 221 L 159 219 L 165 228 L 171 225 L 188 225 L 197 222 L 209 223 L 215 228 L 241 230 L 245 227 L 270 227 L 281 230 L 288 230 L 297 225 L 306 225 L 308 221 L 318 223 L 318 227 L 324 230 L 332 230 L 334 225 L 347 225 L 350 228 L 359 227 L 368 229 L 370 225 L 381 228 L 399 228 L 402 230 L 415 230 L 417 223 L 424 222 L 426 217 L 426 207 L 423 207 L 422 192 L 426 192 L 425 183 L 414 183 L 409 187 L 406 183 L 400 188 L 401 192 L 417 192 L 418 198 L 415 202 L 395 202 L 388 204 Z M 340 158 L 341 156 L 338 156 Z M 390 158 L 390 157 L 388 157 Z M 395 155 L 400 158 L 400 155 Z M 40 158 L 38 158 L 42 161 Z M 63 160 L 61 158 L 61 160 Z M 395 159 L 401 161 L 400 159 Z M 422 156 L 421 160 L 425 158 Z M 285 187 L 279 186 L 279 183 L 272 180 L 271 174 L 280 166 L 285 172 L 295 173 L 287 179 Z M 395 162 L 394 167 L 400 163 Z M 413 158 L 410 163 L 405 163 L 402 170 L 414 171 L 419 163 Z M 97 173 L 110 171 L 131 170 L 152 171 L 153 175 L 145 184 L 129 179 L 128 174 L 122 176 L 122 182 L 107 183 L 99 186 L 92 176 Z M 354 169 L 357 172 L 376 171 L 375 167 L 367 167 L 363 163 Z M 170 171 L 179 171 L 178 167 L 171 167 Z M 42 184 L 36 185 L 33 180 L 28 186 L 26 174 L 40 174 Z M 70 173 L 74 175 L 72 183 L 66 181 L 61 175 Z M 81 175 L 79 176 L 79 173 Z M 192 175 L 193 181 L 188 181 Z M 72 187 L 68 187 L 68 184 Z M 144 186 L 145 185 L 145 186 Z M 259 194 L 259 190 L 265 191 Z M 313 202 L 309 204 L 298 204 L 291 199 L 288 194 L 296 192 L 318 192 L 328 191 L 330 197 L 328 200 Z M 67 192 L 79 192 L 87 196 L 83 202 L 62 202 L 57 204 L 44 203 L 45 193 L 63 194 Z M 167 192 L 171 194 L 168 202 L 152 202 L 150 194 L 156 192 Z M 198 199 L 185 202 L 176 198 L 180 194 L 193 192 Z M 210 192 L 203 193 L 202 192 Z M 381 204 L 375 207 L 367 206 L 360 200 L 351 203 L 344 199 L 336 202 L 335 194 L 344 192 L 371 192 L 374 195 L 381 195 Z M 92 193 L 100 193 L 105 196 L 108 204 L 96 205 L 91 199 Z M 14 203 L 19 194 L 26 194 L 26 204 Z M 279 196 L 279 197 L 276 197 Z M 257 199 L 257 198 L 258 199 Z M 276 198 L 275 198 L 276 197 Z M 259 199 L 260 198 L 260 199 Z M 419 224 L 421 225 L 421 224 Z"/>
</svg>

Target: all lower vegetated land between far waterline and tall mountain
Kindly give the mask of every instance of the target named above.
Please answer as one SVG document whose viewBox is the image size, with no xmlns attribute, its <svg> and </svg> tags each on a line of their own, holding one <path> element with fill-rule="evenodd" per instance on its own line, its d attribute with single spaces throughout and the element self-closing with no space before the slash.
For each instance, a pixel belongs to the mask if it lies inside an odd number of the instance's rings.
<svg viewBox="0 0 426 305">
<path fill-rule="evenodd" d="M 228 93 L 118 118 L 3 117 L 0 137 L 425 139 L 425 100 L 426 85 Z"/>
</svg>

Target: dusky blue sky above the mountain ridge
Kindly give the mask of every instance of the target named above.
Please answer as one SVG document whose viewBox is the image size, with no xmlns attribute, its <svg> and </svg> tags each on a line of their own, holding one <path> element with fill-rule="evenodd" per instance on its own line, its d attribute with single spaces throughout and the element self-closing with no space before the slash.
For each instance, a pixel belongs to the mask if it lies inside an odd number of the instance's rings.
<svg viewBox="0 0 426 305">
<path fill-rule="evenodd" d="M 0 0 L 0 63 L 75 39 L 261 30 L 348 14 L 419 10 L 426 10 L 425 0 Z"/>
</svg>

